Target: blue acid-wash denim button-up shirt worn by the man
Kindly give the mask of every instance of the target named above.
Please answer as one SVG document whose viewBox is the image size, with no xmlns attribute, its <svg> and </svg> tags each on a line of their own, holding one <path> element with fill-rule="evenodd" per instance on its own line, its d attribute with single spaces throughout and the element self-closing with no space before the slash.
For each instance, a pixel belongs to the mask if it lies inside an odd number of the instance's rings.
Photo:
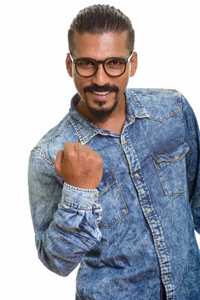
<svg viewBox="0 0 200 300">
<path fill-rule="evenodd" d="M 75 108 L 29 157 L 29 201 L 38 257 L 67 276 L 80 263 L 75 299 L 197 300 L 200 297 L 199 129 L 175 89 L 128 88 L 120 135 Z M 71 186 L 54 161 L 64 143 L 97 151 L 95 189 Z M 67 296 L 66 296 L 67 298 Z"/>
</svg>

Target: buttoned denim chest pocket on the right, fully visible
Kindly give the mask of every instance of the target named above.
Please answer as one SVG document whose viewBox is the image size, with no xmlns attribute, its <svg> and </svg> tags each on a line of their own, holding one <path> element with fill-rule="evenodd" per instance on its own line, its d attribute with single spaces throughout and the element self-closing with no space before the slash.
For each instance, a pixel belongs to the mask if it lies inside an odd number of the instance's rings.
<svg viewBox="0 0 200 300">
<path fill-rule="evenodd" d="M 185 154 L 189 150 L 182 140 L 152 154 L 160 183 L 165 195 L 184 195 L 186 190 Z"/>
</svg>

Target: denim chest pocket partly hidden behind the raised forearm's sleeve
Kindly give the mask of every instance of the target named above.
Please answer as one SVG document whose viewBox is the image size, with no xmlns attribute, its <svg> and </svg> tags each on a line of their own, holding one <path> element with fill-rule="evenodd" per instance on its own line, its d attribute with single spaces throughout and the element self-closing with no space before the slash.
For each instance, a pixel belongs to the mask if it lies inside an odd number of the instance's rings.
<svg viewBox="0 0 200 300">
<path fill-rule="evenodd" d="M 98 228 L 111 228 L 128 213 L 114 171 L 103 173 L 96 189 L 98 202 L 102 207 L 102 219 L 98 223 Z"/>
</svg>

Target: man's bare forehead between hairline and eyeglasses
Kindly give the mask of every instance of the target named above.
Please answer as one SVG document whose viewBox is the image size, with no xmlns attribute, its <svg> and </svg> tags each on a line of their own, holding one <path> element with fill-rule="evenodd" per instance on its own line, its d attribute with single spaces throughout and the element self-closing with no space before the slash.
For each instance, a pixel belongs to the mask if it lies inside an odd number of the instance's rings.
<svg viewBox="0 0 200 300">
<path fill-rule="evenodd" d="M 105 59 L 109 56 L 127 57 L 129 52 L 126 47 L 127 32 L 120 34 L 106 32 L 102 34 L 75 33 L 74 58 L 93 57 Z"/>
</svg>

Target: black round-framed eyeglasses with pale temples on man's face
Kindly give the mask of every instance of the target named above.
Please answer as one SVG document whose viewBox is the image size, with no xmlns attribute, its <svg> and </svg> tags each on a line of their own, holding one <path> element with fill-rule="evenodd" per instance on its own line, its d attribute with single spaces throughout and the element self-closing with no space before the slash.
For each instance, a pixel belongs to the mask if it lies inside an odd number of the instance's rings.
<svg viewBox="0 0 200 300">
<path fill-rule="evenodd" d="M 75 63 L 75 70 L 81 77 L 91 77 L 98 69 L 98 63 L 102 63 L 105 73 L 112 77 L 121 76 L 126 69 L 126 63 L 130 60 L 133 50 L 128 58 L 123 57 L 108 57 L 104 60 L 96 60 L 91 57 L 81 57 L 73 59 L 70 55 L 71 61 Z"/>
</svg>

